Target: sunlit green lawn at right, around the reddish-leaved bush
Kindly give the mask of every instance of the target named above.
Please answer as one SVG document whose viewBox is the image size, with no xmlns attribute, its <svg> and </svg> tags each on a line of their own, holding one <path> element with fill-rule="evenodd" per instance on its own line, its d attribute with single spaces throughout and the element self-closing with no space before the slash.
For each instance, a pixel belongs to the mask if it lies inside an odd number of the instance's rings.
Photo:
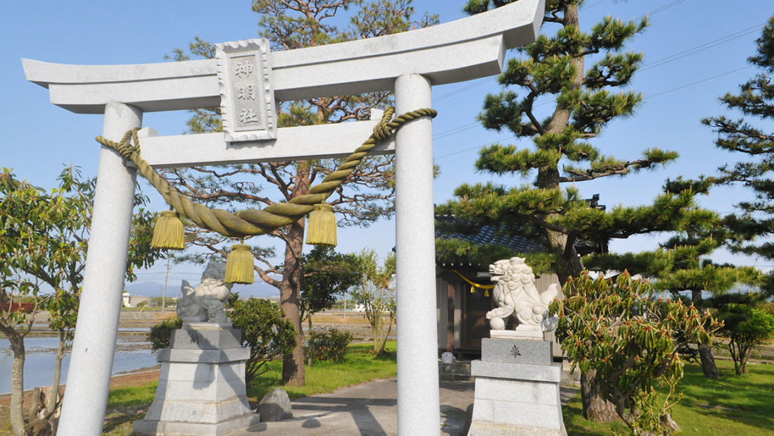
<svg viewBox="0 0 774 436">
<path fill-rule="evenodd" d="M 774 435 L 774 365 L 748 364 L 749 373 L 737 376 L 734 364 L 717 361 L 721 378 L 704 377 L 700 366 L 689 364 L 678 391 L 683 398 L 673 407 L 678 434 Z M 580 394 L 563 410 L 568 434 L 631 434 L 620 422 L 598 424 L 584 420 Z"/>
</svg>

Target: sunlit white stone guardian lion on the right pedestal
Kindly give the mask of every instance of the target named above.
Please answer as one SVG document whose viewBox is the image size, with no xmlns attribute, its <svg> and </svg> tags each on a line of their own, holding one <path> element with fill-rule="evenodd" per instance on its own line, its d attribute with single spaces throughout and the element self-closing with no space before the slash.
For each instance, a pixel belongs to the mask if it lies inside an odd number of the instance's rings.
<svg viewBox="0 0 774 436">
<path fill-rule="evenodd" d="M 493 331 L 505 330 L 511 316 L 518 321 L 515 331 L 528 335 L 528 332 L 535 335 L 557 327 L 557 318 L 548 312 L 548 304 L 559 295 L 557 284 L 538 292 L 532 268 L 520 257 L 492 263 L 489 273 L 495 282 L 492 297 L 498 306 L 486 314 Z"/>
</svg>

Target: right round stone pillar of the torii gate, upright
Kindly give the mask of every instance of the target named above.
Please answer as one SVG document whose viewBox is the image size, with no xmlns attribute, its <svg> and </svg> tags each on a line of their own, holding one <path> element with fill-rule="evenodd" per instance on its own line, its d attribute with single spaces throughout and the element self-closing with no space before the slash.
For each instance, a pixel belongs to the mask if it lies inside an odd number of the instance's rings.
<svg viewBox="0 0 774 436">
<path fill-rule="evenodd" d="M 425 77 L 398 77 L 396 113 L 430 108 L 431 102 Z M 398 431 L 438 434 L 432 122 L 409 122 L 395 142 Z"/>
</svg>

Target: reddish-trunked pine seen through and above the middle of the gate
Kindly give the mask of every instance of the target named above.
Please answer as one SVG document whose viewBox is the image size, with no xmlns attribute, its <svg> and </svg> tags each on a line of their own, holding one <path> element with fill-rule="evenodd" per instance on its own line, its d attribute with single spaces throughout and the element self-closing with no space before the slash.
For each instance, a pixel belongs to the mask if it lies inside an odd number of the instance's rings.
<svg viewBox="0 0 774 436">
<path fill-rule="evenodd" d="M 269 39 L 272 50 L 294 50 L 307 46 L 338 43 L 350 39 L 398 33 L 413 26 L 427 26 L 437 22 L 434 15 L 418 19 L 411 0 L 255 0 L 252 10 L 258 12 L 259 36 Z M 340 12 L 356 8 L 349 26 L 334 26 L 334 17 Z M 196 39 L 190 45 L 196 56 L 214 57 L 214 46 Z M 175 50 L 172 58 L 190 57 L 183 50 Z M 367 119 L 371 108 L 384 107 L 390 101 L 389 93 L 354 96 L 313 98 L 307 101 L 283 102 L 277 115 L 280 127 L 314 125 Z M 195 111 L 188 122 L 191 132 L 217 131 L 221 120 L 217 109 Z M 358 144 L 353 144 L 353 149 Z M 255 163 L 228 168 L 194 168 L 172 170 L 167 177 L 183 194 L 210 207 L 238 208 L 249 204 L 268 206 L 276 201 L 289 201 L 306 194 L 309 187 L 322 180 L 337 166 L 337 160 Z M 351 173 L 345 183 L 329 198 L 329 204 L 341 217 L 340 225 L 368 225 L 378 218 L 392 214 L 394 174 L 392 157 L 368 157 Z M 257 178 L 259 181 L 253 181 Z M 296 347 L 283 358 L 283 383 L 304 384 L 304 352 L 301 336 L 300 283 L 303 234 L 306 220 L 300 219 L 269 235 L 284 243 L 282 263 L 274 263 L 273 248 L 254 246 L 253 256 L 258 276 L 279 290 L 281 307 L 296 329 Z M 226 239 L 211 232 L 195 231 L 190 235 L 194 245 L 209 253 L 190 255 L 180 260 L 207 263 L 211 253 L 227 256 Z"/>
</svg>

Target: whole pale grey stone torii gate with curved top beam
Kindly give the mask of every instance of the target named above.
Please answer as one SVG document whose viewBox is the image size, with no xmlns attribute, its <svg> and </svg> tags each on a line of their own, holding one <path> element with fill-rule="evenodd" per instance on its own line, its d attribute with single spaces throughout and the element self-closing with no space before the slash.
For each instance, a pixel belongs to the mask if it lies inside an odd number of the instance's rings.
<svg viewBox="0 0 774 436">
<path fill-rule="evenodd" d="M 430 108 L 431 86 L 499 74 L 505 50 L 535 40 L 543 0 L 521 0 L 454 22 L 328 46 L 268 53 L 262 77 L 264 129 L 244 133 L 230 113 L 227 132 L 155 136 L 143 129 L 142 156 L 153 167 L 347 156 L 378 119 L 272 129 L 274 101 L 395 91 L 396 113 Z M 255 42 L 253 42 L 255 43 Z M 226 43 L 236 47 L 248 42 Z M 236 53 L 235 56 L 239 56 Z M 236 62 L 236 57 L 231 57 Z M 222 62 L 222 60 L 220 60 Z M 137 65 L 68 65 L 22 60 L 26 78 L 71 112 L 104 114 L 102 136 L 118 140 L 144 112 L 226 105 L 236 84 L 218 80 L 219 60 Z M 222 65 L 221 65 L 222 67 Z M 234 67 L 232 65 L 232 67 Z M 222 73 L 222 71 L 221 71 Z M 222 77 L 221 77 L 222 79 Z M 272 95 L 273 94 L 273 95 Z M 235 111 L 235 108 L 231 108 Z M 376 118 L 376 117 L 372 117 Z M 242 118 L 245 124 L 245 118 Z M 377 153 L 396 154 L 398 429 L 440 431 L 433 152 L 429 118 L 409 122 Z M 135 168 L 102 146 L 80 311 L 59 434 L 101 434 L 121 310 L 135 194 Z"/>
</svg>

